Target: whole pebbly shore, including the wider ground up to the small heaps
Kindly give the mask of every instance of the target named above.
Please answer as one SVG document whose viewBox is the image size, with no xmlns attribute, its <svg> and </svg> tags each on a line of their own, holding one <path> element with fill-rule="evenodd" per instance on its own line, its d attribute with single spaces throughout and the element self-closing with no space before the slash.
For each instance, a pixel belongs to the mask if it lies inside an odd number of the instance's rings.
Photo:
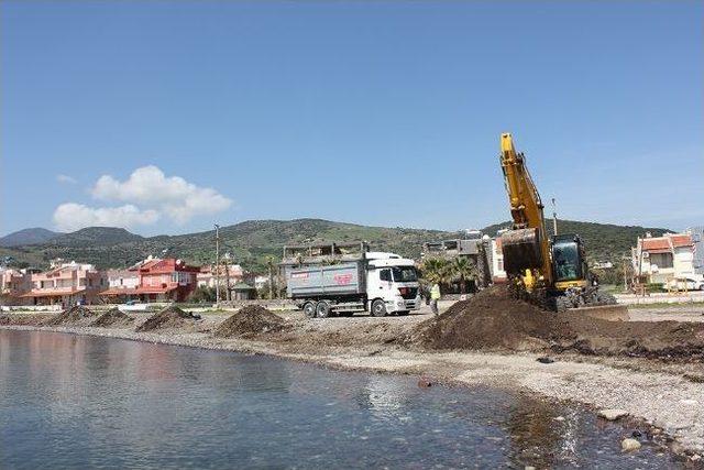
<svg viewBox="0 0 704 470">
<path fill-rule="evenodd" d="M 256 321 L 232 321 L 232 311 L 188 317 L 165 328 L 141 331 L 150 315 L 108 327 L 47 325 L 46 315 L 14 314 L 0 327 L 94 335 L 195 348 L 272 354 L 331 368 L 415 374 L 424 381 L 492 385 L 521 390 L 560 401 L 586 404 L 595 411 L 616 409 L 652 426 L 688 464 L 700 466 L 704 453 L 704 364 L 628 357 L 544 354 L 502 351 L 430 351 L 405 343 L 427 315 L 307 319 L 299 311 L 277 313 L 276 328 L 265 314 Z M 99 316 L 96 316 L 98 318 Z M 228 324 L 232 335 L 223 335 Z M 54 323 L 56 320 L 54 319 Z M 264 323 L 263 323 L 264 321 Z M 255 325 L 239 334 L 232 325 Z M 240 328 L 244 328 L 241 327 Z M 618 417 L 620 419 L 620 416 Z M 627 436 L 624 436 L 627 437 Z"/>
</svg>

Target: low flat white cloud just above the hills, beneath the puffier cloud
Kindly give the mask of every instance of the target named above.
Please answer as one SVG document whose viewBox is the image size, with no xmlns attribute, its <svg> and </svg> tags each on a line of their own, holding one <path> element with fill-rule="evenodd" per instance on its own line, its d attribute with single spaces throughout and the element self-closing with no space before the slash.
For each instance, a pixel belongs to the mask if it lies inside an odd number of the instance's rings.
<svg viewBox="0 0 704 470">
<path fill-rule="evenodd" d="M 85 227 L 146 226 L 158 220 L 156 210 L 140 210 L 128 204 L 121 207 L 88 207 L 82 204 L 66 203 L 54 210 L 54 225 L 62 231 L 74 231 Z"/>
</svg>

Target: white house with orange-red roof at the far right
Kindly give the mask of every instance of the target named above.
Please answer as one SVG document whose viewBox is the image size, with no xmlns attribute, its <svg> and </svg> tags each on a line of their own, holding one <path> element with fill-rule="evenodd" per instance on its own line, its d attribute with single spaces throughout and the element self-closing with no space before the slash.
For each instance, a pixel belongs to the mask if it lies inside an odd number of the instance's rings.
<svg viewBox="0 0 704 470">
<path fill-rule="evenodd" d="M 694 243 L 690 233 L 638 238 L 631 248 L 635 275 L 650 284 L 694 275 Z"/>
</svg>

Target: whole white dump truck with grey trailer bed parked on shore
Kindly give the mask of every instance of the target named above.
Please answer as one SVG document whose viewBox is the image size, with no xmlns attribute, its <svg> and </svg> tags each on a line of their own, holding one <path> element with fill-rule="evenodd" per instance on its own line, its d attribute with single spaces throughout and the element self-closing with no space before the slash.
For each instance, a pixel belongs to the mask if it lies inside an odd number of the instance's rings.
<svg viewBox="0 0 704 470">
<path fill-rule="evenodd" d="M 333 253 L 334 255 L 334 249 Z M 362 251 L 356 255 L 301 259 L 284 263 L 286 294 L 309 318 L 408 315 L 420 305 L 414 260 L 394 253 Z"/>
</svg>

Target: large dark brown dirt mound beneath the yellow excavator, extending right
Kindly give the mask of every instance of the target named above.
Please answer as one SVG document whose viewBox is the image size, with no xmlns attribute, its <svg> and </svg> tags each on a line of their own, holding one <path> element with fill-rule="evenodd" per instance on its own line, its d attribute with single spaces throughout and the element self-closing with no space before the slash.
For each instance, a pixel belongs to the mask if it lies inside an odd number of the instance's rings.
<svg viewBox="0 0 704 470">
<path fill-rule="evenodd" d="M 607 321 L 554 314 L 518 300 L 505 286 L 458 302 L 419 324 L 406 343 L 426 349 L 580 352 L 704 361 L 704 324 Z"/>
</svg>

